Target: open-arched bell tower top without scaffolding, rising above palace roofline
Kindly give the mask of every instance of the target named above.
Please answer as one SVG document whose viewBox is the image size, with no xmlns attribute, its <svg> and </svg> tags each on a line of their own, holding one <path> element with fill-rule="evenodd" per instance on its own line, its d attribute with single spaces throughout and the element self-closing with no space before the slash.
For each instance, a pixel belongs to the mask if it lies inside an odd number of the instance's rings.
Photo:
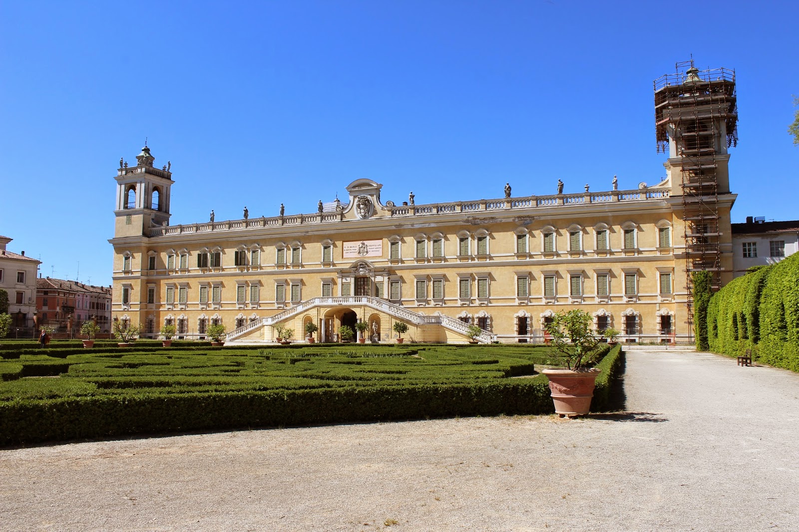
<svg viewBox="0 0 799 532">
<path fill-rule="evenodd" d="M 169 225 L 169 198 L 172 181 L 171 163 L 162 169 L 153 166 L 155 157 L 145 147 L 136 156 L 136 166 L 119 160 L 117 169 L 117 216 L 114 236 L 149 236 L 149 229 Z"/>
</svg>

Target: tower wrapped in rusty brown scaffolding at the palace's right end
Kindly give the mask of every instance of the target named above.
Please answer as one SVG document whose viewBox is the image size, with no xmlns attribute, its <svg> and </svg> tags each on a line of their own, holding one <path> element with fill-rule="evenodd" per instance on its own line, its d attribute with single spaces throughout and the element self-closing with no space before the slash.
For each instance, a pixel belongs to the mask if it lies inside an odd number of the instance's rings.
<svg viewBox="0 0 799 532">
<path fill-rule="evenodd" d="M 735 196 L 729 192 L 727 149 L 737 145 L 735 71 L 699 70 L 693 60 L 677 63 L 675 70 L 654 81 L 655 127 L 658 153 L 669 155 L 674 209 L 681 212 L 693 323 L 693 273 L 711 272 L 714 289 L 732 276 L 729 211 Z"/>
</svg>

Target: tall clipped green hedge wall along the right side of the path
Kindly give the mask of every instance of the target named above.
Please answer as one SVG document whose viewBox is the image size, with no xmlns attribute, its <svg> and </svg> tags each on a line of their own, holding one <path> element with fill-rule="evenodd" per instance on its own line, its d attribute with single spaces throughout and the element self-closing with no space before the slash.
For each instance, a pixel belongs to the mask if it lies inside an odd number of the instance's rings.
<svg viewBox="0 0 799 532">
<path fill-rule="evenodd" d="M 710 351 L 799 371 L 799 254 L 721 288 L 706 319 Z"/>
</svg>

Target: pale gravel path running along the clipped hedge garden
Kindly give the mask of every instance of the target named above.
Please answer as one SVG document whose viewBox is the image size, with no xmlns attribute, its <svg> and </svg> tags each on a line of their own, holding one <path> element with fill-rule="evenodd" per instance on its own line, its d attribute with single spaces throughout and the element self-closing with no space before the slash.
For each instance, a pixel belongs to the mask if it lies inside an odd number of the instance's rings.
<svg viewBox="0 0 799 532">
<path fill-rule="evenodd" d="M 587 419 L 0 451 L 0 530 L 799 530 L 799 375 L 633 350 L 625 390 Z"/>
</svg>

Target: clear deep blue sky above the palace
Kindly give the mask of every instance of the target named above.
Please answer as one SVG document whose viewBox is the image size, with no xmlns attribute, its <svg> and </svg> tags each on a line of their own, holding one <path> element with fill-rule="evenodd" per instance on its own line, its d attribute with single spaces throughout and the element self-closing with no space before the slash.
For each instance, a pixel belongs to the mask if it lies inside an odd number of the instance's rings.
<svg viewBox="0 0 799 532">
<path fill-rule="evenodd" d="M 736 69 L 733 221 L 795 220 L 797 2 L 0 2 L 0 234 L 111 281 L 115 169 L 171 161 L 172 224 L 652 185 L 654 78 Z M 78 265 L 79 263 L 79 265 Z"/>
</svg>

